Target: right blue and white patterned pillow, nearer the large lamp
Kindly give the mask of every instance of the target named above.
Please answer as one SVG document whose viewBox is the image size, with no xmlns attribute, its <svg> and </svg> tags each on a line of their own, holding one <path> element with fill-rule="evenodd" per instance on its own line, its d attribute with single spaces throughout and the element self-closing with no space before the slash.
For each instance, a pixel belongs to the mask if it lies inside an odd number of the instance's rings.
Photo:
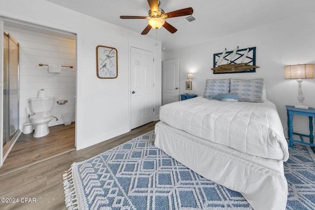
<svg viewBox="0 0 315 210">
<path fill-rule="evenodd" d="M 263 102 L 262 87 L 264 79 L 230 79 L 230 93 L 238 96 L 238 101 Z"/>
</svg>

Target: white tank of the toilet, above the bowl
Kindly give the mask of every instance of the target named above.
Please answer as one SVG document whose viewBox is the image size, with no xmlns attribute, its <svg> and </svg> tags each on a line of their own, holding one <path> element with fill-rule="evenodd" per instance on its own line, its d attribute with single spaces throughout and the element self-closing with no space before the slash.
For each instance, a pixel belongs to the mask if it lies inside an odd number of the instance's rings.
<svg viewBox="0 0 315 210">
<path fill-rule="evenodd" d="M 54 107 L 55 97 L 30 98 L 30 108 L 32 113 L 51 112 Z"/>
</svg>

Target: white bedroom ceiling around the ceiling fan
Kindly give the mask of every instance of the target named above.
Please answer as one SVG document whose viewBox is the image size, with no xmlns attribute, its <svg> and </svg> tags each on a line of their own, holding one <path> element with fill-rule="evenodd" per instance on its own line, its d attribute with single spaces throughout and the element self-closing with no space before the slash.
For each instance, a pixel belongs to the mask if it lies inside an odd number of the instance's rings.
<svg viewBox="0 0 315 210">
<path fill-rule="evenodd" d="M 121 15 L 148 16 L 147 0 L 47 0 L 71 10 L 141 33 L 146 19 L 122 20 Z M 165 13 L 193 8 L 198 21 L 189 24 L 184 17 L 166 21 L 177 32 L 158 30 L 162 49 L 169 51 L 202 43 L 223 35 L 275 23 L 307 12 L 315 12 L 315 0 L 160 0 Z M 303 23 L 301 23 L 303 24 Z M 146 35 L 156 39 L 151 29 Z"/>
</svg>

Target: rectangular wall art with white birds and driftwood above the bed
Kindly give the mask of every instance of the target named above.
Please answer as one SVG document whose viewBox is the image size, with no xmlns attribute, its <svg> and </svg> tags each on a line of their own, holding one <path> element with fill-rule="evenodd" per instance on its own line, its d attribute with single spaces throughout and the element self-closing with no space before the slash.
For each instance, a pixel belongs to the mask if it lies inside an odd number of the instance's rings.
<svg viewBox="0 0 315 210">
<path fill-rule="evenodd" d="M 256 47 L 238 49 L 213 54 L 213 73 L 245 73 L 256 72 Z"/>
</svg>

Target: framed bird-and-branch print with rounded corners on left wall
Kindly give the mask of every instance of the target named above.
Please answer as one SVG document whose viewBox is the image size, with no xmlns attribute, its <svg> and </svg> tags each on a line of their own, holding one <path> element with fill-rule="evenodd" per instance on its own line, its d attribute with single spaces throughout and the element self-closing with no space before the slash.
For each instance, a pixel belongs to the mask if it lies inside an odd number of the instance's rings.
<svg viewBox="0 0 315 210">
<path fill-rule="evenodd" d="M 96 75 L 100 79 L 115 79 L 118 76 L 117 50 L 113 47 L 96 47 Z"/>
</svg>

